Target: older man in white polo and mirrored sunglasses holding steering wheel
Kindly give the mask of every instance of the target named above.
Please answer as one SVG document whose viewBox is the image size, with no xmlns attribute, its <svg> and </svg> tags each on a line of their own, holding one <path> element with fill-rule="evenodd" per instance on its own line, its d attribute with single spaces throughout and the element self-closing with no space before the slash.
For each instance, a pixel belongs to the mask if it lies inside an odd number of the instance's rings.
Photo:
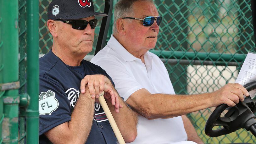
<svg viewBox="0 0 256 144">
<path fill-rule="evenodd" d="M 222 103 L 234 106 L 248 93 L 227 84 L 212 93 L 175 95 L 163 62 L 148 52 L 161 20 L 152 0 L 118 1 L 114 33 L 91 62 L 112 77 L 120 96 L 140 115 L 134 143 L 203 143 L 184 114 Z"/>
</svg>

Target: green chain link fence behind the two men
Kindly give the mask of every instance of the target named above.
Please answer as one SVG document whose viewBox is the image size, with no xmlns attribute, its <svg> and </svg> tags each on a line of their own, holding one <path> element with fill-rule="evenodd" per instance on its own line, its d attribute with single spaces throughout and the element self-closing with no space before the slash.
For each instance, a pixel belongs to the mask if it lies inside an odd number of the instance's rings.
<svg viewBox="0 0 256 144">
<path fill-rule="evenodd" d="M 40 54 L 47 53 L 53 42 L 47 30 L 47 8 L 50 2 L 51 0 L 39 0 Z M 255 52 L 249 1 L 155 0 L 155 3 L 163 21 L 157 45 L 152 52 L 162 58 L 177 94 L 212 92 L 228 82 L 235 82 L 245 54 L 248 51 Z M 25 91 L 25 5 L 25 0 L 19 0 L 20 92 Z M 94 1 L 94 8 L 103 12 L 104 0 Z M 101 19 L 98 20 L 90 54 L 95 51 L 101 24 Z M 110 28 L 109 36 L 111 30 Z M 254 136 L 246 130 L 216 138 L 206 136 L 204 125 L 213 110 L 214 108 L 209 108 L 188 114 L 205 143 L 256 143 Z M 22 112 L 21 108 L 21 121 Z M 25 135 L 23 129 L 24 127 L 20 127 L 20 137 Z"/>
</svg>

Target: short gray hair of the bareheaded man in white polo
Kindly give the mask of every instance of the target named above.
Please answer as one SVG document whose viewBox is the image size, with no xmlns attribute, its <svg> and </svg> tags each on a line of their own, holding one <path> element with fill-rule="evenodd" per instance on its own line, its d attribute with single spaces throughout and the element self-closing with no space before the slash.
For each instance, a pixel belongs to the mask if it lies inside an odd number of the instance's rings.
<svg viewBox="0 0 256 144">
<path fill-rule="evenodd" d="M 114 8 L 114 27 L 113 27 L 114 33 L 117 32 L 117 29 L 116 29 L 117 19 L 120 19 L 123 17 L 134 16 L 133 4 L 137 1 L 145 1 L 145 2 L 149 2 L 149 3 L 154 3 L 153 0 L 119 0 L 115 4 L 115 8 Z"/>
</svg>

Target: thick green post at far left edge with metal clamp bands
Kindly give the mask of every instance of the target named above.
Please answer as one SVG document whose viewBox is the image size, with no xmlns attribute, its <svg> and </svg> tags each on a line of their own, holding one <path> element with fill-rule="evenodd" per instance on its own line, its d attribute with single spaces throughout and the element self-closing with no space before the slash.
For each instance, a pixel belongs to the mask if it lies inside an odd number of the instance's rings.
<svg viewBox="0 0 256 144">
<path fill-rule="evenodd" d="M 19 114 L 19 80 L 18 69 L 18 0 L 1 2 L 1 54 L 4 69 L 1 71 L 2 83 L 0 89 L 3 94 L 2 124 L 3 143 L 18 143 L 18 114 Z M 14 86 L 14 87 L 13 87 Z"/>
</svg>

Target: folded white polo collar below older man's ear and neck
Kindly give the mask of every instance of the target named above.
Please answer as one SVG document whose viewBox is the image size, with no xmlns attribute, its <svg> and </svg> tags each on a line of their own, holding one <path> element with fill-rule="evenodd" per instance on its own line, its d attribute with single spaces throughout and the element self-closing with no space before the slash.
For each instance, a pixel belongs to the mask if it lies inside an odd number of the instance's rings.
<svg viewBox="0 0 256 144">
<path fill-rule="evenodd" d="M 129 53 L 118 41 L 117 39 L 113 36 L 113 34 L 111 35 L 108 45 L 111 49 L 113 49 L 117 54 L 119 54 L 122 58 L 125 59 L 125 61 L 127 62 L 131 62 L 134 61 L 136 59 L 135 56 L 133 56 L 131 53 Z"/>
</svg>

